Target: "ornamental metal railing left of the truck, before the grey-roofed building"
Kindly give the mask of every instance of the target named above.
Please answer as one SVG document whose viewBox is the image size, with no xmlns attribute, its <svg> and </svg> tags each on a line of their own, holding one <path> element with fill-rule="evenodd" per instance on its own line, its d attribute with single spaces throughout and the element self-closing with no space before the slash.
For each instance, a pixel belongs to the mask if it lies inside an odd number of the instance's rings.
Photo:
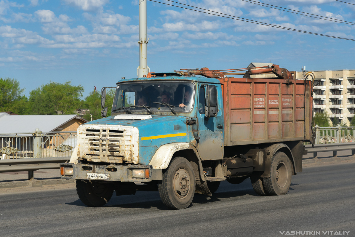
<svg viewBox="0 0 355 237">
<path fill-rule="evenodd" d="M 75 132 L 0 134 L 0 159 L 70 157 L 76 146 Z"/>
</svg>

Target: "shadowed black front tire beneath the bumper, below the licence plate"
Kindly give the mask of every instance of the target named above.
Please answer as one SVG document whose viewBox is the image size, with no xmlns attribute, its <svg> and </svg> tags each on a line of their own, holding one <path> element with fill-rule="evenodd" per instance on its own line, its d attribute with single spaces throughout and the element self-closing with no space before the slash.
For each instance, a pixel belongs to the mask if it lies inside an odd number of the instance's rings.
<svg viewBox="0 0 355 237">
<path fill-rule="evenodd" d="M 76 192 L 85 205 L 103 206 L 111 199 L 113 187 L 92 180 L 77 180 Z"/>
</svg>

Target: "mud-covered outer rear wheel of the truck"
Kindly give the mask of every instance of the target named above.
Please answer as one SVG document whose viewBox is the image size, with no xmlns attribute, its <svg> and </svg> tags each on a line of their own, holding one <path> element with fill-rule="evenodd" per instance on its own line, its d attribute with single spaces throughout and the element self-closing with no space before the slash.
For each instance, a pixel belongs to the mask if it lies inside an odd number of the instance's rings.
<svg viewBox="0 0 355 237">
<path fill-rule="evenodd" d="M 283 152 L 277 152 L 271 160 L 270 178 L 264 178 L 263 184 L 270 195 L 284 195 L 291 185 L 291 161 Z"/>
</svg>

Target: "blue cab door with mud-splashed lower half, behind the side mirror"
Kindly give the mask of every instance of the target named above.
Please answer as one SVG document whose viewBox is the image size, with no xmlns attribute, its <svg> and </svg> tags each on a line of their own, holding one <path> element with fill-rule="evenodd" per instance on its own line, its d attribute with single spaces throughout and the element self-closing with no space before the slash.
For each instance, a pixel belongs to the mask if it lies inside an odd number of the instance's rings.
<svg viewBox="0 0 355 237">
<path fill-rule="evenodd" d="M 215 85 L 217 88 L 217 106 L 218 112 L 216 117 L 206 117 L 206 84 L 201 85 L 198 89 L 197 103 L 197 134 L 200 139 L 197 143 L 197 151 L 201 160 L 218 160 L 223 158 L 224 151 L 224 133 L 223 133 L 223 107 L 221 86 Z"/>
</svg>

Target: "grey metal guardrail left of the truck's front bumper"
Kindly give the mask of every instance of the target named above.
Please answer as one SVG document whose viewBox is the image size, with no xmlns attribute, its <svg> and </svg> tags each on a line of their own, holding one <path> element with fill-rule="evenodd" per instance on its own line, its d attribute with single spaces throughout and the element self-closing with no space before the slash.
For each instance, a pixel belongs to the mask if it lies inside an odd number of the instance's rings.
<svg viewBox="0 0 355 237">
<path fill-rule="evenodd" d="M 33 179 L 33 171 L 43 169 L 59 169 L 70 157 L 27 158 L 0 160 L 0 172 L 28 171 L 28 179 Z"/>
</svg>

